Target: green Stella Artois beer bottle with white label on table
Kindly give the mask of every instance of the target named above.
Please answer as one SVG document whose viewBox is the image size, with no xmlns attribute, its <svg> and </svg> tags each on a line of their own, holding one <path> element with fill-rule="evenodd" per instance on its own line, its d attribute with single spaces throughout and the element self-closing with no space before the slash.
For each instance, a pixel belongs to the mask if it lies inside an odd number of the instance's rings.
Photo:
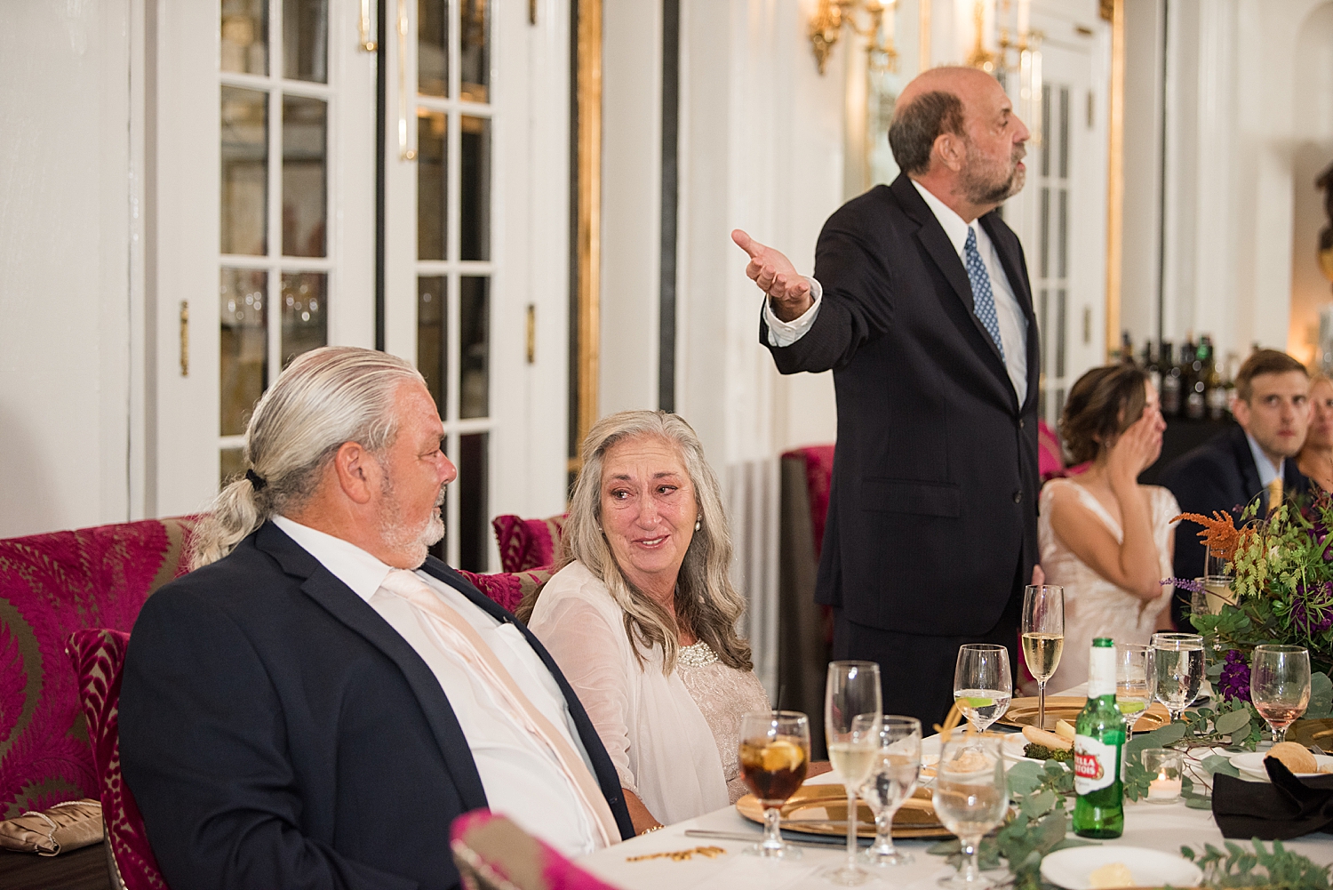
<svg viewBox="0 0 1333 890">
<path fill-rule="evenodd" d="M 1088 705 L 1074 723 L 1074 834 L 1118 838 L 1125 830 L 1125 785 L 1121 759 L 1125 718 L 1116 707 L 1116 643 L 1092 640 L 1088 660 Z"/>
</svg>

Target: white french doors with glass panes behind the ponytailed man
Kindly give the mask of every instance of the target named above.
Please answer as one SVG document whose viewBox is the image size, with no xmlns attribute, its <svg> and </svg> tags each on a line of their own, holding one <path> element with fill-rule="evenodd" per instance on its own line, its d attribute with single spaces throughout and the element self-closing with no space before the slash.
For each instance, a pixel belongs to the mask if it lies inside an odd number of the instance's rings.
<svg viewBox="0 0 1333 890">
<path fill-rule="evenodd" d="M 384 348 L 447 423 L 443 555 L 484 571 L 493 515 L 564 504 L 568 0 L 380 1 L 384 33 L 361 0 L 153 17 L 145 514 L 199 510 L 244 470 L 292 358 L 376 344 L 381 52 Z"/>
</svg>

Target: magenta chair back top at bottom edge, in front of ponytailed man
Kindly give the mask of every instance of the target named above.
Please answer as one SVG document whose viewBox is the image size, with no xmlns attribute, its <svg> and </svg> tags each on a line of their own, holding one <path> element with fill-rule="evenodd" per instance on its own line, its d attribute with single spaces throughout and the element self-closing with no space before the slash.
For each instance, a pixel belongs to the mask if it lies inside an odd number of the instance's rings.
<svg viewBox="0 0 1333 890">
<path fill-rule="evenodd" d="M 491 810 L 460 815 L 449 835 L 468 890 L 616 890 Z"/>
</svg>

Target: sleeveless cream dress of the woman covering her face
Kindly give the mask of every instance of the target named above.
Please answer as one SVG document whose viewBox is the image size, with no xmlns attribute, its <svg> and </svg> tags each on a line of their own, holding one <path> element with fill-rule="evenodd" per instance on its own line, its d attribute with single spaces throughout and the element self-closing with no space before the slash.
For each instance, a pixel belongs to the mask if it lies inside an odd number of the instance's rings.
<svg viewBox="0 0 1333 890">
<path fill-rule="evenodd" d="M 1106 526 L 1121 543 L 1125 539 L 1120 524 L 1097 498 L 1069 479 L 1052 479 L 1041 490 L 1037 514 L 1037 542 L 1041 547 L 1041 568 L 1048 584 L 1065 588 L 1065 651 L 1060 667 L 1046 683 L 1049 691 L 1060 691 L 1088 681 L 1088 654 L 1094 636 L 1110 636 L 1117 643 L 1146 643 L 1157 626 L 1157 615 L 1170 604 L 1174 587 L 1164 584 L 1157 599 L 1144 600 L 1117 587 L 1078 559 L 1056 536 L 1050 527 L 1050 502 L 1058 486 L 1076 492 L 1078 503 Z M 1152 512 L 1153 542 L 1161 575 L 1172 576 L 1170 520 L 1180 515 L 1176 495 L 1161 486 L 1145 486 Z"/>
</svg>

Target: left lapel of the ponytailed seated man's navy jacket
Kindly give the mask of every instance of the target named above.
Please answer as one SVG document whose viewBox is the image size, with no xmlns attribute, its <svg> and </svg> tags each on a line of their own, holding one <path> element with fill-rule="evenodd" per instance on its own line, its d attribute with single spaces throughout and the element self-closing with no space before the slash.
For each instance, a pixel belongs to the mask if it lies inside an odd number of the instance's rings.
<svg viewBox="0 0 1333 890">
<path fill-rule="evenodd" d="M 273 523 L 265 523 L 259 530 L 255 544 L 273 556 L 287 574 L 304 578 L 303 592 L 397 664 L 421 705 L 464 806 L 468 810 L 487 806 L 481 775 L 463 727 L 459 726 L 459 718 L 440 687 L 440 681 L 416 650 L 369 603 Z"/>
</svg>

